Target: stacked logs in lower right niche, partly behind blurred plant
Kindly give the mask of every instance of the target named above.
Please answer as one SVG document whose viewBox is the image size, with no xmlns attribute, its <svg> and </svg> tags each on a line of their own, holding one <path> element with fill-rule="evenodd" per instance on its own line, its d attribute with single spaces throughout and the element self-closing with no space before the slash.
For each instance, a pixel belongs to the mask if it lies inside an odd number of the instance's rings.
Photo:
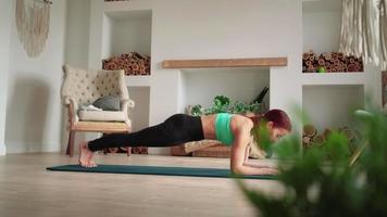
<svg viewBox="0 0 387 217">
<path fill-rule="evenodd" d="M 302 146 L 304 149 L 313 145 L 323 145 L 325 140 L 333 132 L 332 129 L 326 128 L 323 133 L 319 133 L 317 129 L 313 125 L 304 125 L 302 133 Z M 358 130 L 349 129 L 348 127 L 341 127 L 337 130 L 349 141 L 349 150 L 353 153 L 357 150 L 357 142 L 360 141 L 360 132 Z"/>
</svg>

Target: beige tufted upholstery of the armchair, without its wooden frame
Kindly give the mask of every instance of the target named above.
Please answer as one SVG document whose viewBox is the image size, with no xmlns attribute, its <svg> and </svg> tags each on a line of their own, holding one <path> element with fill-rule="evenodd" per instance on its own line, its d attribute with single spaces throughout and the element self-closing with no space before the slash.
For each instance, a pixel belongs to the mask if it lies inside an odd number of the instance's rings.
<svg viewBox="0 0 387 217">
<path fill-rule="evenodd" d="M 64 104 L 73 102 L 75 122 L 130 123 L 127 110 L 134 107 L 134 101 L 129 100 L 124 71 L 92 71 L 65 65 L 61 92 Z M 117 112 L 79 111 L 80 116 L 78 116 L 79 105 L 91 104 L 104 95 L 118 95 L 122 110 Z"/>
</svg>

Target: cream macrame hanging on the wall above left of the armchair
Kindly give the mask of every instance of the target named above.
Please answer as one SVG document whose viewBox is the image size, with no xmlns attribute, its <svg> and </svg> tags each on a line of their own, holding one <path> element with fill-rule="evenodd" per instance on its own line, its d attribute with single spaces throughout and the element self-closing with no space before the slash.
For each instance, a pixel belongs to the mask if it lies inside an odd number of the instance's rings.
<svg viewBox="0 0 387 217">
<path fill-rule="evenodd" d="M 18 39 L 29 58 L 38 56 L 50 29 L 49 0 L 16 0 L 16 28 Z"/>
</svg>

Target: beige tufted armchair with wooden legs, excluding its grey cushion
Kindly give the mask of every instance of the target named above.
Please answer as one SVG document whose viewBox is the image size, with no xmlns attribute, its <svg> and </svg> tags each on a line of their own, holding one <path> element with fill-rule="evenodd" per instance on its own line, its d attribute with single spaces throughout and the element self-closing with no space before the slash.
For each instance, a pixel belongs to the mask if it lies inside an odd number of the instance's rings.
<svg viewBox="0 0 387 217">
<path fill-rule="evenodd" d="M 129 99 L 124 71 L 92 71 L 63 67 L 62 100 L 68 110 L 68 143 L 66 154 L 73 156 L 76 131 L 103 133 L 130 131 L 128 108 L 135 103 Z M 80 105 L 92 104 L 105 95 L 121 98 L 121 111 L 84 111 Z M 128 154 L 129 154 L 128 149 Z"/>
</svg>

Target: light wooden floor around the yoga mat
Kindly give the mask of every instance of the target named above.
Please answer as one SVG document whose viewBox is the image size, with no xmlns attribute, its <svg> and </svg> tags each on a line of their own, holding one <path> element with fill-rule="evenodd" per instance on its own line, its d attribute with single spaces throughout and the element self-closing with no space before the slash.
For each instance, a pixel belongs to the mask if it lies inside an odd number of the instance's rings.
<svg viewBox="0 0 387 217">
<path fill-rule="evenodd" d="M 155 155 L 98 155 L 97 163 L 227 168 L 225 158 Z M 0 216 L 255 216 L 227 178 L 171 177 L 48 171 L 73 164 L 61 154 L 0 156 Z M 267 162 L 263 162 L 267 163 Z M 249 187 L 279 193 L 271 180 L 247 180 Z"/>
</svg>

